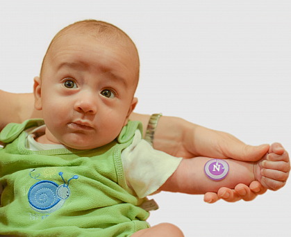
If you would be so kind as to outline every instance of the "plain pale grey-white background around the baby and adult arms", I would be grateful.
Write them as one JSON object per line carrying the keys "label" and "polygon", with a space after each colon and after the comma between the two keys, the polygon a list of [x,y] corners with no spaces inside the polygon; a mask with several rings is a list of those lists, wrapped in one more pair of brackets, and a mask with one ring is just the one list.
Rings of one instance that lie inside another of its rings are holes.
{"label": "plain pale grey-white background around the baby and adult arms", "polygon": [[[290,152],[289,2],[1,1],[0,88],[32,92],[53,36],[101,19],[139,49],[136,112],[183,117],[251,145],[278,141]],[[185,236],[290,236],[290,188],[235,204],[162,193],[149,222],[172,222]]]}

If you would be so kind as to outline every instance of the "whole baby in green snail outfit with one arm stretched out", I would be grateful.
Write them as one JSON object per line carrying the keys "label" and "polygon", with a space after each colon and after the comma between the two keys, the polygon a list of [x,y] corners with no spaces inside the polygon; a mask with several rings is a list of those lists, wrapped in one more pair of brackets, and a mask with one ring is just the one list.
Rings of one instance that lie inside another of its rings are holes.
{"label": "whole baby in green snail outfit with one arm stretched out", "polygon": [[283,186],[290,162],[276,144],[256,163],[154,150],[141,123],[128,121],[139,68],[135,44],[106,22],[76,22],[53,38],[34,84],[44,121],[8,124],[0,134],[0,234],[183,236],[173,224],[149,227],[147,195],[253,180]]}

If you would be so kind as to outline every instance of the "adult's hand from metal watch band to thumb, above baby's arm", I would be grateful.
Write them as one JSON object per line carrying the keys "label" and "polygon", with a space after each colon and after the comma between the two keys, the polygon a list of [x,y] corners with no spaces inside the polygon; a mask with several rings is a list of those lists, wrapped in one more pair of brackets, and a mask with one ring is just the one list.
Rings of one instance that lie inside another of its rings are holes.
{"label": "adult's hand from metal watch band to thumb, above baby's arm", "polygon": [[207,129],[180,117],[162,116],[156,127],[153,148],[183,158],[208,156],[258,161],[267,153],[269,145],[246,145],[229,133]]}

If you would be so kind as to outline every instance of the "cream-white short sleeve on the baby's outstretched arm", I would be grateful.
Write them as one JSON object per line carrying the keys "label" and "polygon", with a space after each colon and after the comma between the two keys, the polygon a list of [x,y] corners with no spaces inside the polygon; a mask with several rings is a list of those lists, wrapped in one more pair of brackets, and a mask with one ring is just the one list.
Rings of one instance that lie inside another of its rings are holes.
{"label": "cream-white short sleeve on the baby's outstretched arm", "polygon": [[138,197],[146,197],[162,186],[175,172],[182,158],[153,149],[139,130],[133,143],[122,151],[122,164],[128,186]]}

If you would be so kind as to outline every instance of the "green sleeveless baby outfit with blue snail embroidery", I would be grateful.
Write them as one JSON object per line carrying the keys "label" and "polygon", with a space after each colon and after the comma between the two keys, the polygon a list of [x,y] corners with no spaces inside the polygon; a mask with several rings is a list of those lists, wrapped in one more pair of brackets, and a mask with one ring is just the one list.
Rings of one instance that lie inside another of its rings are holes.
{"label": "green sleeveless baby outfit with blue snail embroidery", "polygon": [[142,124],[129,121],[108,145],[90,150],[26,149],[27,120],[0,133],[0,234],[17,236],[131,236],[149,213],[124,178],[121,152]]}

